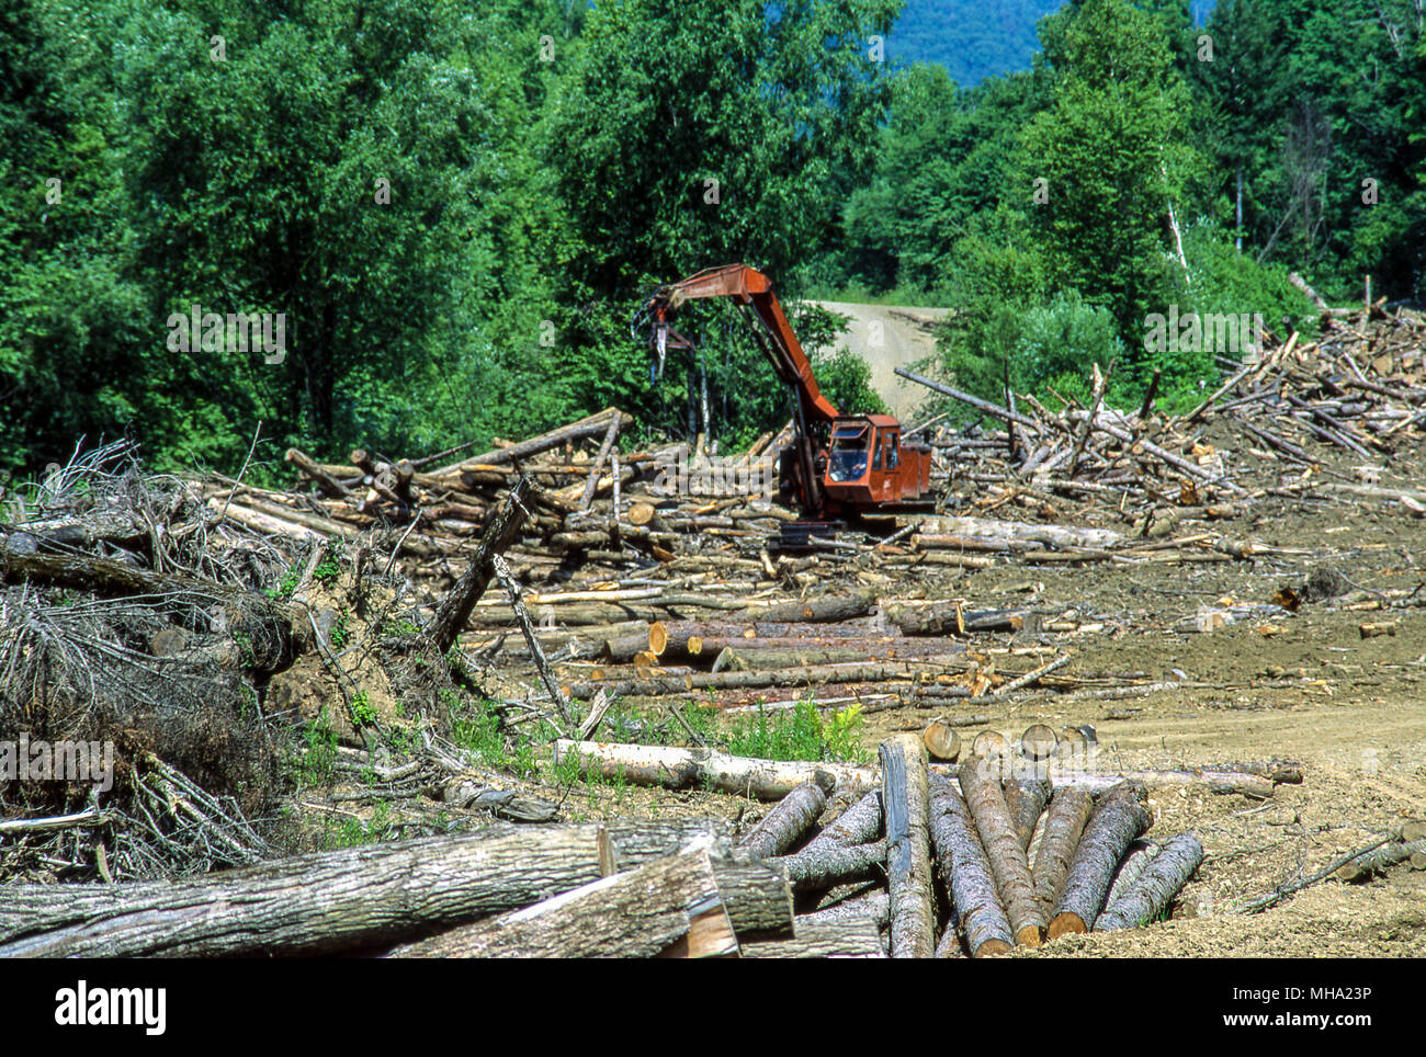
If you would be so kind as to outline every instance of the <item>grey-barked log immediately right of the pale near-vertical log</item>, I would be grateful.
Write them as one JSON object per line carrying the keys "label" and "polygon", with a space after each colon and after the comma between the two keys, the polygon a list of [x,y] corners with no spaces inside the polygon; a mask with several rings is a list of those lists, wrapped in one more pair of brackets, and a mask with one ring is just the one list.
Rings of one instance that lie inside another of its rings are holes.
{"label": "grey-barked log immediately right of the pale near-vertical log", "polygon": [[995,892],[985,849],[965,801],[940,776],[931,782],[931,840],[941,882],[950,895],[953,925],[948,932],[963,934],[974,957],[1007,953],[1014,933]]}

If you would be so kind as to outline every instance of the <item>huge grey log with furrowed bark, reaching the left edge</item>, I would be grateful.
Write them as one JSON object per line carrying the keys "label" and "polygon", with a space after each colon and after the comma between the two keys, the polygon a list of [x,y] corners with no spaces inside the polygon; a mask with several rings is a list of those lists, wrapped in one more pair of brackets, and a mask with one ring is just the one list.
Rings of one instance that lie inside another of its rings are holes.
{"label": "huge grey log with furrowed bark, reaching the left edge", "polygon": [[0,957],[372,950],[597,880],[600,859],[596,825],[511,826],[301,855],[197,882],[10,885]]}

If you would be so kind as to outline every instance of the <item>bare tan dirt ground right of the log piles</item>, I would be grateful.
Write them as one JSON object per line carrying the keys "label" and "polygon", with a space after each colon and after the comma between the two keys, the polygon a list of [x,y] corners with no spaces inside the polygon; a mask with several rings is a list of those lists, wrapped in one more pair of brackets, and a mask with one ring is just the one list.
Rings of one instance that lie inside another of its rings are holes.
{"label": "bare tan dirt ground right of the log piles", "polygon": [[[1078,632],[977,637],[977,645],[1054,645],[1072,652],[1068,674],[1182,684],[1129,699],[1071,691],[1040,694],[998,712],[965,707],[967,714],[988,712],[990,725],[1010,738],[1037,721],[1055,729],[1092,724],[1104,766],[1268,759],[1302,765],[1303,782],[1278,785],[1265,802],[1155,792],[1149,836],[1192,829],[1206,849],[1172,920],[1064,939],[1018,956],[1426,954],[1426,872],[1407,865],[1363,885],[1330,879],[1265,912],[1233,913],[1235,906],[1372,843],[1393,823],[1426,816],[1426,608],[1383,608],[1373,594],[1426,583],[1426,523],[1399,509],[1335,506],[1313,513],[1289,500],[1266,500],[1232,534],[1252,540],[1262,554],[1253,561],[1182,566],[1012,563],[897,585],[928,598],[964,597],[975,608],[1032,607],[1081,625]],[[1352,593],[1303,601],[1295,613],[1272,605],[1279,588],[1301,591],[1320,567],[1346,576]],[[1231,623],[1212,631],[1181,630],[1204,610],[1221,610]],[[1393,623],[1395,634],[1363,637],[1365,623]],[[921,729],[927,718],[915,708],[873,712],[866,744],[897,729]],[[592,816],[615,806],[596,795],[575,799]],[[743,825],[766,811],[717,795],[653,791],[626,791],[617,808],[617,813],[720,813]]]}

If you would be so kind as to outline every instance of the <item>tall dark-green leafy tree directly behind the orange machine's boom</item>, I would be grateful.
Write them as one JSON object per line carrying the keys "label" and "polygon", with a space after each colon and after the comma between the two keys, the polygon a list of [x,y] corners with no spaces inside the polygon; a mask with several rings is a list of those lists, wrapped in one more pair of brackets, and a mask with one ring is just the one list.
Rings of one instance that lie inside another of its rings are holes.
{"label": "tall dark-green leafy tree directly behind the orange machine's boom", "polygon": [[617,402],[683,432],[707,376],[714,425],[746,434],[786,416],[783,387],[729,312],[690,308],[680,329],[717,340],[670,360],[657,387],[626,321],[652,286],[739,261],[791,301],[837,218],[829,187],[870,165],[886,85],[868,38],[897,6],[632,0],[590,14],[548,155],[573,239],[556,373],[570,402]]}

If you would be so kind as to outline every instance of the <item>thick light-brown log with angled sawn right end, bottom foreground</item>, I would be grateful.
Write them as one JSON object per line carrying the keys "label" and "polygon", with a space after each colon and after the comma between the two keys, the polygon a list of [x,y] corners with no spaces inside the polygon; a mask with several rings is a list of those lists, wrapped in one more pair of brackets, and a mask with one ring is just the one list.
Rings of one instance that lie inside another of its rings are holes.
{"label": "thick light-brown log with angled sawn right end, bottom foreground", "polygon": [[712,907],[722,915],[722,942],[704,953],[736,953],[713,863],[696,849],[404,944],[391,957],[655,957]]}

